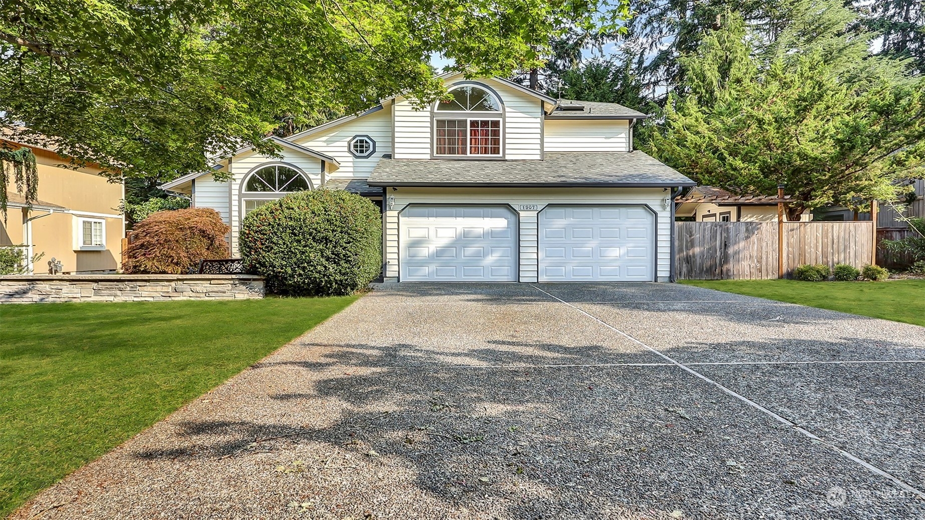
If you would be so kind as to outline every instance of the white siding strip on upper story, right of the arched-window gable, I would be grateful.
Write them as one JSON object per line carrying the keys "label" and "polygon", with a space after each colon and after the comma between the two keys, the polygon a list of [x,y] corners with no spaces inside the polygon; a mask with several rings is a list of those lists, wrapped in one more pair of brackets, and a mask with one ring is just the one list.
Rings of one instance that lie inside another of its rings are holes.
{"label": "white siding strip on upper story, right of the arched-window gable", "polygon": [[630,124],[625,119],[546,119],[547,152],[629,152]]}

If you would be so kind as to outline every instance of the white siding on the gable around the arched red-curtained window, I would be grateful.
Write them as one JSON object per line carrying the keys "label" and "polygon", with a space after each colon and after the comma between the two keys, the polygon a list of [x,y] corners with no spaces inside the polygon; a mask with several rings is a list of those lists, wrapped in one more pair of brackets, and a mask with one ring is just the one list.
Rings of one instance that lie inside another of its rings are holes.
{"label": "white siding on the gable around the arched red-curtained window", "polygon": [[[461,79],[450,80],[461,82]],[[508,159],[542,158],[543,108],[536,97],[494,80],[478,80],[497,92],[504,105],[504,148]],[[395,158],[429,159],[431,107],[414,109],[411,101],[395,101]]]}

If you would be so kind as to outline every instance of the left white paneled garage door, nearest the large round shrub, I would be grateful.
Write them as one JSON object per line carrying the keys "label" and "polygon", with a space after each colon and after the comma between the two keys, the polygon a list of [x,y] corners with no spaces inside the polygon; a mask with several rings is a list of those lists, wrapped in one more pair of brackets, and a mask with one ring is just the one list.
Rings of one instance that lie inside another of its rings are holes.
{"label": "left white paneled garage door, nearest the large round shrub", "polygon": [[517,217],[508,206],[412,204],[399,216],[401,281],[514,281]]}

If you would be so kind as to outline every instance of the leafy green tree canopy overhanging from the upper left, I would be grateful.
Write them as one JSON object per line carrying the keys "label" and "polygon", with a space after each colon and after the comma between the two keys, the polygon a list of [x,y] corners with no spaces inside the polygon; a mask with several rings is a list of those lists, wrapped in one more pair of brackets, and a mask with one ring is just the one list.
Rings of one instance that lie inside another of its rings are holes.
{"label": "leafy green tree canopy overhanging from the upper left", "polygon": [[242,146],[395,93],[442,93],[426,56],[474,75],[541,65],[607,0],[11,0],[0,124],[125,176],[200,170]]}

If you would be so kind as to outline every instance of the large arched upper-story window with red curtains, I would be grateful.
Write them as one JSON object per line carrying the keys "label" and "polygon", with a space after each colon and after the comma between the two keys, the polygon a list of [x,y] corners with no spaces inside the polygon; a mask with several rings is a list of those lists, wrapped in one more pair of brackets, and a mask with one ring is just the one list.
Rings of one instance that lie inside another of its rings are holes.
{"label": "large arched upper-story window with red curtains", "polygon": [[501,104],[486,89],[462,85],[434,108],[434,155],[501,155]]}

